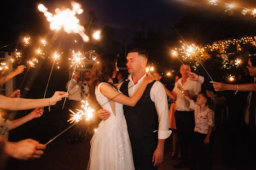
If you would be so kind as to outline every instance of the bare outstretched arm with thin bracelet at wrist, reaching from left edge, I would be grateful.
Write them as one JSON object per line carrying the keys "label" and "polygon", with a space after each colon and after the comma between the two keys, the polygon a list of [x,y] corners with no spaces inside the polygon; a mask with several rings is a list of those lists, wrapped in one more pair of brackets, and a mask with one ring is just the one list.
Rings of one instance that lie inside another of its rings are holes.
{"label": "bare outstretched arm with thin bracelet at wrist, reaching from left edge", "polygon": [[55,105],[57,101],[67,96],[66,92],[55,92],[49,99],[22,99],[22,98],[7,98],[0,95],[0,108],[10,111],[28,110],[36,107],[45,107]]}

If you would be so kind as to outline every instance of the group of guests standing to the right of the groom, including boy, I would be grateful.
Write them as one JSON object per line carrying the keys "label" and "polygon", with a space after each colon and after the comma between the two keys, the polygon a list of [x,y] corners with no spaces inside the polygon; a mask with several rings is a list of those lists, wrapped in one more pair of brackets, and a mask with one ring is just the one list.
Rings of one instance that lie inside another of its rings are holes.
{"label": "group of guests standing to the right of the groom, including boy", "polygon": [[[216,92],[232,90],[223,96],[202,89],[209,89],[205,77],[190,71],[189,65],[181,65],[182,77],[176,78],[170,92],[165,88],[169,101],[169,127],[172,129],[172,157],[181,159],[174,168],[212,168],[212,141],[214,112],[209,104],[228,106],[229,117],[225,120],[223,163],[236,168],[253,166],[256,142],[256,57],[251,56],[247,65],[249,75],[241,75],[236,84],[211,82]],[[155,80],[161,75],[154,73]],[[179,154],[179,150],[180,153]]]}

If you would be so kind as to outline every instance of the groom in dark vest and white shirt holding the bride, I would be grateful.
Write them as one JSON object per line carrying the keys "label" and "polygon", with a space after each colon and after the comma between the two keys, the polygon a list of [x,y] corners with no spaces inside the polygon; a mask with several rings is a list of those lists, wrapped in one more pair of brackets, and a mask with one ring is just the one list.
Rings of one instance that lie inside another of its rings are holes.
{"label": "groom in dark vest and white shirt holding the bride", "polygon": [[[118,88],[126,96],[132,96],[143,78],[148,54],[135,48],[127,54],[128,80]],[[165,139],[171,135],[168,130],[168,103],[162,83],[153,81],[148,84],[135,107],[124,105],[124,116],[132,146],[135,169],[157,169],[164,159]],[[106,120],[108,113],[101,111],[98,117]]]}

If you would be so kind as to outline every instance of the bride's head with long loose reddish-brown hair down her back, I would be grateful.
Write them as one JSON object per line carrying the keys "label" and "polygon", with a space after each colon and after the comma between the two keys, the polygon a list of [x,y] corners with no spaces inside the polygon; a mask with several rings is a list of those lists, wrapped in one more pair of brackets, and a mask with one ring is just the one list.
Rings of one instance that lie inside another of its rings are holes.
{"label": "bride's head with long loose reddish-brown hair down her back", "polygon": [[94,65],[92,66],[91,83],[89,87],[89,102],[90,105],[95,109],[100,106],[95,97],[95,87],[101,82],[114,86],[108,81],[109,78],[112,78],[113,74],[116,72],[115,62],[117,62],[117,58],[115,58],[114,55],[100,55],[97,56]]}

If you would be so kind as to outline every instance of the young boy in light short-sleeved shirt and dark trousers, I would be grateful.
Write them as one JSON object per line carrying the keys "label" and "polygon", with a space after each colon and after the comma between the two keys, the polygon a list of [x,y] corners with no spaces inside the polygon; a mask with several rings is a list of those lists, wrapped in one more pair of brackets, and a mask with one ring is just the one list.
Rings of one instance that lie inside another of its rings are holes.
{"label": "young boy in light short-sleeved shirt and dark trousers", "polygon": [[196,102],[184,96],[190,103],[189,107],[195,111],[195,129],[193,146],[193,164],[197,169],[211,169],[210,136],[214,126],[214,112],[208,107],[206,92],[200,92]]}

